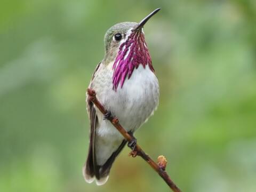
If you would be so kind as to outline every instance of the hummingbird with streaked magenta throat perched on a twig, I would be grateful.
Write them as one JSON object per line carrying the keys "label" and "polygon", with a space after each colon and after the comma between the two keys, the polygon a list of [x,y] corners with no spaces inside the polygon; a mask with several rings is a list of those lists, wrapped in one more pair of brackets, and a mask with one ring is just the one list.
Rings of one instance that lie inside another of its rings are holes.
{"label": "hummingbird with streaked magenta throat perched on a twig", "polygon": [[[121,22],[110,27],[104,37],[105,57],[96,67],[89,88],[108,113],[103,115],[88,99],[90,142],[83,166],[86,182],[107,182],[109,172],[127,141],[106,121],[117,117],[124,129],[133,135],[158,106],[159,85],[143,32],[145,23],[160,8],[137,22]],[[128,142],[134,147],[136,141]]]}

